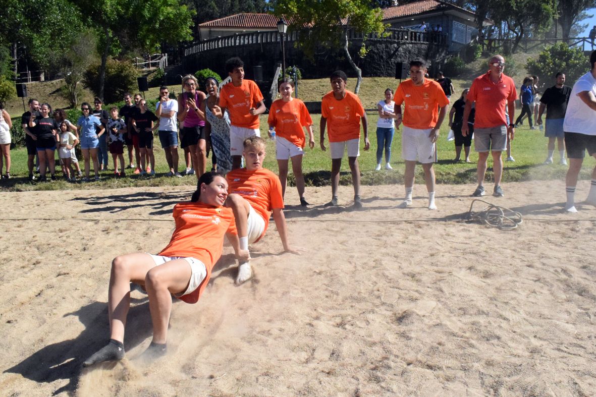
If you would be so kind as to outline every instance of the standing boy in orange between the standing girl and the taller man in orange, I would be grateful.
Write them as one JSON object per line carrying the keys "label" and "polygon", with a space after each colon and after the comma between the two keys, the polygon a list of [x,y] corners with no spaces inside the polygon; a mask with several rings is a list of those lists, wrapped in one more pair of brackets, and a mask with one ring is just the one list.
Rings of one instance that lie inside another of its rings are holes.
{"label": "standing boy in orange between the standing girl and the taller man in orange", "polygon": [[347,91],[347,76],[342,70],[331,73],[331,88],[321,100],[321,150],[325,151],[325,127],[329,126],[329,148],[331,150],[331,201],[328,206],[337,205],[337,187],[339,172],[342,168],[342,157],[347,147],[347,161],[352,172],[354,185],[354,207],[362,208],[360,198],[360,122],[364,131],[364,150],[368,150],[367,114],[359,98]]}

